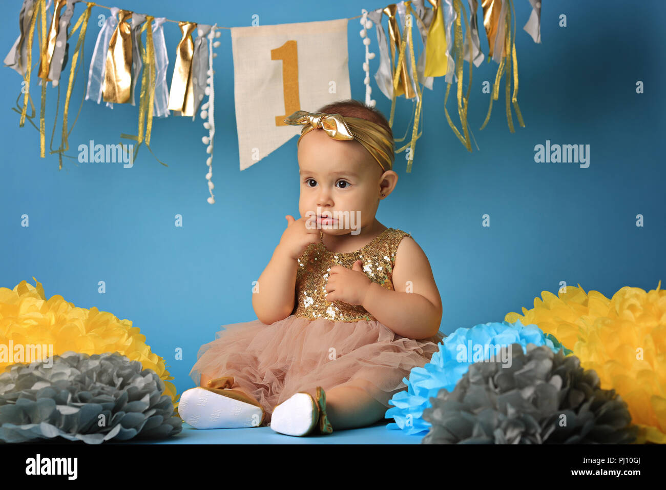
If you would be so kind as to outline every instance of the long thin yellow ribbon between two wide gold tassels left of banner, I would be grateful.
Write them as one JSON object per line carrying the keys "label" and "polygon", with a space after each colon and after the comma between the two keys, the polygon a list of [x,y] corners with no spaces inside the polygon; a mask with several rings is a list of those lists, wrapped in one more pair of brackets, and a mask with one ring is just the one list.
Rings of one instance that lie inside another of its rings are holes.
{"label": "long thin yellow ribbon between two wide gold tassels left of banner", "polygon": [[[133,139],[139,143],[134,152],[134,161],[139,154],[139,148],[144,141],[144,127],[145,127],[145,142],[146,147],[151,150],[151,132],[153,130],[153,108],[155,106],[155,45],[153,44],[153,20],[155,17],[147,15],[146,22],[141,27],[141,33],[146,32],[146,47],[139,46],[141,51],[141,58],[143,59],[143,76],[141,78],[141,97],[139,99],[139,133],[137,136],[121,133],[121,138]],[[140,37],[141,39],[141,37]],[[124,147],[125,145],[123,145]],[[155,157],[155,153],[153,153]],[[155,157],[159,163],[168,167],[166,163],[160,161]]]}

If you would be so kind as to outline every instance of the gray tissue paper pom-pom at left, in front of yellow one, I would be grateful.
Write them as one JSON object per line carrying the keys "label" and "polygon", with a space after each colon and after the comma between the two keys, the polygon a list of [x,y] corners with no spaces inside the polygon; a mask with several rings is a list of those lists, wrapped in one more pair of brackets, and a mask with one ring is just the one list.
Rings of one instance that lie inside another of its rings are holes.
{"label": "gray tissue paper pom-pom at left, in front of yellow one", "polygon": [[119,353],[66,352],[0,375],[0,441],[64,437],[100,444],[179,433],[171,398],[152,369]]}

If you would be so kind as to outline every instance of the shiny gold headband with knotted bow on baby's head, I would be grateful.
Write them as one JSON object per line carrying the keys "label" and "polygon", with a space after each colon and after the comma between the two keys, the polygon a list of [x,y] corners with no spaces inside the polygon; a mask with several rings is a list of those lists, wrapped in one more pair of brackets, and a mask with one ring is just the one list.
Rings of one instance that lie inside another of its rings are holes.
{"label": "shiny gold headband with knotted bow on baby's head", "polygon": [[370,152],[383,171],[393,168],[395,157],[392,137],[385,127],[372,121],[360,117],[344,117],[340,114],[296,111],[286,117],[284,122],[290,125],[304,125],[296,146],[312,129],[323,129],[327,135],[338,141],[356,139]]}

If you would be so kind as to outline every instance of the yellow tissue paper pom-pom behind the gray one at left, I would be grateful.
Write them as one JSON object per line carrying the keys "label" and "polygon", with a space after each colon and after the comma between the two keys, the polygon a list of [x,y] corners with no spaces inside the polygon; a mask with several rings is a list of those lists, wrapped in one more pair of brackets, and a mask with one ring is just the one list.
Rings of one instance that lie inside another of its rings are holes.
{"label": "yellow tissue paper pom-pom behind the gray one at left", "polygon": [[[165,360],[146,345],[139,328],[95,307],[77,308],[61,295],[46,299],[41,283],[33,279],[37,287],[27,281],[21,281],[14,289],[0,287],[0,373],[15,362],[30,361],[16,361],[15,353],[7,356],[10,344],[53,345],[53,355],[67,351],[90,355],[117,351],[131,361],[141,362],[143,369],[153,369],[165,382],[163,395],[170,396],[175,407],[176,387],[167,381],[173,377],[165,369]],[[43,355],[47,354],[51,352]]]}

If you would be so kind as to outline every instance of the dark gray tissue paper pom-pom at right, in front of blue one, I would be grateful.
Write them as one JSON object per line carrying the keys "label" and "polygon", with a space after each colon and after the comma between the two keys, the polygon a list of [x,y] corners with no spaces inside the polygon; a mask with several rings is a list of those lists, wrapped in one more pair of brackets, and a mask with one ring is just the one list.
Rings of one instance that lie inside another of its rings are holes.
{"label": "dark gray tissue paper pom-pom at right, in front of blue one", "polygon": [[627,403],[573,355],[511,345],[511,365],[478,362],[454,391],[431,397],[422,444],[625,444],[635,441]]}

